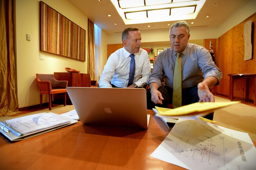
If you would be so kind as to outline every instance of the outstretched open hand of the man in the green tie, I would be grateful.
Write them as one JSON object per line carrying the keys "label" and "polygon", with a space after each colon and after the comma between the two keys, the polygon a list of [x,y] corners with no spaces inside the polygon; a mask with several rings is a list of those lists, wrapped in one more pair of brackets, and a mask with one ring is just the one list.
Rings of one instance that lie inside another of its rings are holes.
{"label": "outstretched open hand of the man in the green tie", "polygon": [[214,102],[214,95],[210,92],[206,83],[198,83],[197,88],[199,102]]}

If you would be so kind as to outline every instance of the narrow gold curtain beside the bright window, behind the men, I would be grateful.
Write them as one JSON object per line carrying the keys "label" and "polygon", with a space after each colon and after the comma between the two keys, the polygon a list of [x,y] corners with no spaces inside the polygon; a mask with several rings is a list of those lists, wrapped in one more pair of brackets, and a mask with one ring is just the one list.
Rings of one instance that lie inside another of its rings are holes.
{"label": "narrow gold curtain beside the bright window, behind the men", "polygon": [[95,40],[94,23],[88,19],[88,74],[95,80]]}

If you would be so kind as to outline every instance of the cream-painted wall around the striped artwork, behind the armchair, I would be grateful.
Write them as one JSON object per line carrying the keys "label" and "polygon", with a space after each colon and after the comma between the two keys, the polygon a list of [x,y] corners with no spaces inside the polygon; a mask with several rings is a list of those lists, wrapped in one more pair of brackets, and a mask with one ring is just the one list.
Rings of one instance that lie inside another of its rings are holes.
{"label": "cream-painted wall around the striped artwork, behind the armchair", "polygon": [[[68,0],[44,0],[44,3],[76,23],[87,33],[87,16],[77,10]],[[87,73],[87,36],[86,62],[39,51],[39,0],[16,0],[16,61],[17,91],[19,108],[40,103],[36,73],[53,74],[66,72],[65,67],[75,68]],[[31,41],[26,40],[31,35]],[[45,56],[44,60],[39,55]],[[43,103],[48,96],[43,95]]]}

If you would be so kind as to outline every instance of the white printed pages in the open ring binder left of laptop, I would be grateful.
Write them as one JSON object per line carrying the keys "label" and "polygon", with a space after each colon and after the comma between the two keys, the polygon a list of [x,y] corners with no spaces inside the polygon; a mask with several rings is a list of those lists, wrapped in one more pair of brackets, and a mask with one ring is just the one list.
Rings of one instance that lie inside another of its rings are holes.
{"label": "white printed pages in the open ring binder left of laptop", "polygon": [[39,113],[6,120],[5,123],[22,135],[31,134],[51,127],[69,123],[70,120],[48,114]]}

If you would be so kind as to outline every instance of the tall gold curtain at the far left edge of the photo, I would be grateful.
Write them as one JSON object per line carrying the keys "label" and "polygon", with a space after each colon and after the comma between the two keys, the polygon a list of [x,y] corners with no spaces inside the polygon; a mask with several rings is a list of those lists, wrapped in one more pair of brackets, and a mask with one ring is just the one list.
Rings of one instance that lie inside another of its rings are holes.
{"label": "tall gold curtain at the far left edge of the photo", "polygon": [[15,87],[13,0],[0,0],[0,117],[19,113]]}

